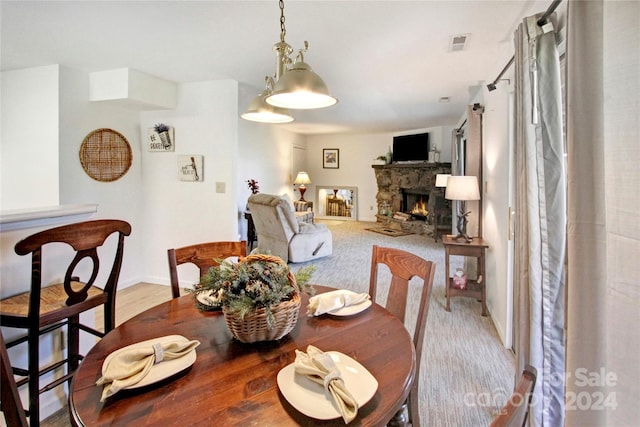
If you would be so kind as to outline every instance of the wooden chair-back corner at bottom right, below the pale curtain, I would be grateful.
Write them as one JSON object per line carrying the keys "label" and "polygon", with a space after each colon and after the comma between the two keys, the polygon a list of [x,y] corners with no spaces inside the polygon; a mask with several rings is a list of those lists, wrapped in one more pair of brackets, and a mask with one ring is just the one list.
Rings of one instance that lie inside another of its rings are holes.
{"label": "wooden chair-back corner at bottom right, below the pale curtain", "polygon": [[531,409],[537,375],[538,371],[533,366],[524,368],[516,389],[490,427],[524,427]]}

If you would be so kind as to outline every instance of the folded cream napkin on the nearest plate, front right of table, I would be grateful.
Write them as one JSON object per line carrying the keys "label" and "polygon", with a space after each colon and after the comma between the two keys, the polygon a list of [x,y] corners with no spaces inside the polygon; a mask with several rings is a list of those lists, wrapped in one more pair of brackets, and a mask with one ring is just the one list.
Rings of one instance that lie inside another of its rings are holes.
{"label": "folded cream napkin on the nearest plate, front right of table", "polygon": [[358,403],[344,385],[340,370],[330,354],[312,345],[307,347],[306,353],[296,350],[294,369],[297,374],[324,386],[338,406],[345,424],[358,415]]}

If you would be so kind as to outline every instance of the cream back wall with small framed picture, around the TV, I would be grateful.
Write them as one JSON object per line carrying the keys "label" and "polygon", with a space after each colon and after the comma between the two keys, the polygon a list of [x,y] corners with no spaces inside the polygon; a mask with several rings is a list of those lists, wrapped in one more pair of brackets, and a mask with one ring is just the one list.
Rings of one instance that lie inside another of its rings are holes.
{"label": "cream back wall with small framed picture, around the TV", "polygon": [[[451,161],[451,130],[441,126],[415,130],[429,132],[430,142],[441,153],[442,162]],[[357,212],[359,221],[375,221],[377,213],[376,193],[378,186],[371,165],[373,160],[387,153],[393,145],[393,133],[312,135],[307,137],[307,168],[311,184],[307,185],[305,199],[315,200],[315,187],[358,187]],[[340,150],[339,168],[322,167],[322,149]],[[307,195],[309,197],[307,197]],[[311,199],[314,197],[314,199]]]}

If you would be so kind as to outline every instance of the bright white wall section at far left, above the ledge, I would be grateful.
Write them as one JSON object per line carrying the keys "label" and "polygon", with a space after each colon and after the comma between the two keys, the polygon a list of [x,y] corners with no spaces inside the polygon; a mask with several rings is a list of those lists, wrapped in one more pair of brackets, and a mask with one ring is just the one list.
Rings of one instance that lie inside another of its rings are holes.
{"label": "bright white wall section at far left, above the ledge", "polygon": [[58,68],[1,74],[3,210],[58,204]]}

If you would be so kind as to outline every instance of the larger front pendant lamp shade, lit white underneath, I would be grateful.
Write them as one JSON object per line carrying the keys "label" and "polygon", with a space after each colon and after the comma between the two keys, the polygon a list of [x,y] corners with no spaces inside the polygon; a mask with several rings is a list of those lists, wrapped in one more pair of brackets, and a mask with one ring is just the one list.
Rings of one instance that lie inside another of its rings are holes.
{"label": "larger front pendant lamp shade, lit white underneath", "polygon": [[338,102],[322,78],[306,62],[297,62],[278,80],[267,103],[281,108],[314,109]]}

